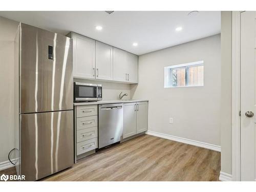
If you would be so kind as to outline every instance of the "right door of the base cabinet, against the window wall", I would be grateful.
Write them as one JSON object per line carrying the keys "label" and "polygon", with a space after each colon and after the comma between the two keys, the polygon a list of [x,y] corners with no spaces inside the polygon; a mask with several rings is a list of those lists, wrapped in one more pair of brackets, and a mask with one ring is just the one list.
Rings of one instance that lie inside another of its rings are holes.
{"label": "right door of the base cabinet, against the window wall", "polygon": [[137,134],[147,131],[147,101],[137,102]]}

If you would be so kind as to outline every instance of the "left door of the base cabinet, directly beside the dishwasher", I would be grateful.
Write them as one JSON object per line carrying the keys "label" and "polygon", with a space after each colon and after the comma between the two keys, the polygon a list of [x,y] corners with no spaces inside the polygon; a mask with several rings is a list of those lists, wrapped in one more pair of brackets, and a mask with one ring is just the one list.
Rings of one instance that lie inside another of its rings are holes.
{"label": "left door of the base cabinet, directly beside the dishwasher", "polygon": [[123,103],[123,139],[136,134],[136,103]]}

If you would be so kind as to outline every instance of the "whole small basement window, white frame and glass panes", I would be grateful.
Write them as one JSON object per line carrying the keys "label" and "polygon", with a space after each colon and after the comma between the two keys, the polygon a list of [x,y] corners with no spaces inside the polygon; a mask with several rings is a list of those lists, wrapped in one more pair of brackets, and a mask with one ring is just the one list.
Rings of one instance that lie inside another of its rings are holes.
{"label": "whole small basement window, white frame and glass panes", "polygon": [[164,88],[204,86],[204,61],[164,67]]}

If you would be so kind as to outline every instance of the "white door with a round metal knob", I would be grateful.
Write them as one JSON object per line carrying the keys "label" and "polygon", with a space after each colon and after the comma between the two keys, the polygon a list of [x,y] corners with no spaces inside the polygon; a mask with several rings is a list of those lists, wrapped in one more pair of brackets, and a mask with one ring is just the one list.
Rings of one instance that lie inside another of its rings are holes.
{"label": "white door with a round metal knob", "polygon": [[[255,18],[256,12],[241,13],[241,180],[254,181],[255,171]],[[254,113],[254,116],[252,116]],[[250,117],[251,116],[251,117]]]}

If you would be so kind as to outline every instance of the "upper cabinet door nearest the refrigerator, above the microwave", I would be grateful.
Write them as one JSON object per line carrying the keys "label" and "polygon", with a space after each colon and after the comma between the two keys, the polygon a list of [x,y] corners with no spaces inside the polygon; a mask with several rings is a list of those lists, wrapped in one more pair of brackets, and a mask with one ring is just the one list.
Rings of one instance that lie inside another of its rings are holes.
{"label": "upper cabinet door nearest the refrigerator, above the microwave", "polygon": [[73,76],[95,78],[95,40],[73,34]]}

